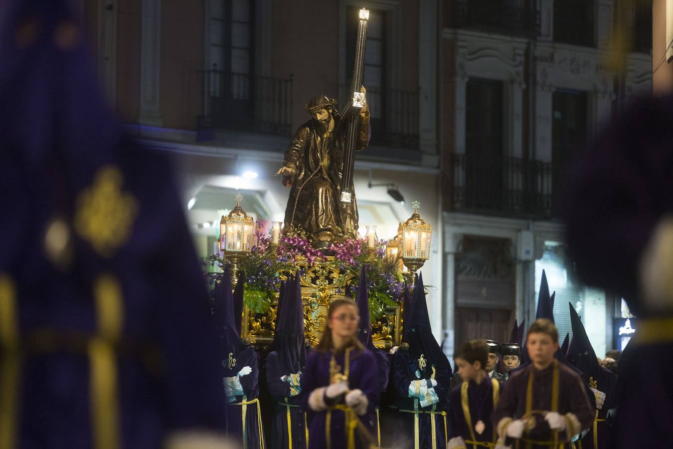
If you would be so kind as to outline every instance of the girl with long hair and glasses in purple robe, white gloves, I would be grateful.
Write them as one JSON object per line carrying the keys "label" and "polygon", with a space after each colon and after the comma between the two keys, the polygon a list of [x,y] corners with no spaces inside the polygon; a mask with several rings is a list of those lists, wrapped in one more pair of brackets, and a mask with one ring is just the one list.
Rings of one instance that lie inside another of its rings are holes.
{"label": "girl with long hair and glasses in purple robe, white gloves", "polygon": [[376,445],[373,421],[379,392],[376,358],[357,339],[359,315],[350,298],[336,298],[327,328],[308,354],[302,379],[309,448],[369,448]]}

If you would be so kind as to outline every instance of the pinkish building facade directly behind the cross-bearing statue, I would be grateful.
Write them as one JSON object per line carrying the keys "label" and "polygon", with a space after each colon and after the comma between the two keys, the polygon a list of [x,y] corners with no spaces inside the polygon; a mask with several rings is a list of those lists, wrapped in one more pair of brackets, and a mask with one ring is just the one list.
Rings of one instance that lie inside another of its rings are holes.
{"label": "pinkish building facade directly behind the cross-bearing statue", "polygon": [[282,221],[289,189],[275,173],[283,152],[310,118],[310,98],[347,103],[357,12],[369,9],[363,84],[372,136],[354,174],[360,228],[376,224],[379,238],[392,238],[420,201],[435,230],[422,271],[435,287],[429,308],[439,337],[437,1],[74,1],[127,129],[175,156],[201,256],[213,252],[236,193],[255,219]]}

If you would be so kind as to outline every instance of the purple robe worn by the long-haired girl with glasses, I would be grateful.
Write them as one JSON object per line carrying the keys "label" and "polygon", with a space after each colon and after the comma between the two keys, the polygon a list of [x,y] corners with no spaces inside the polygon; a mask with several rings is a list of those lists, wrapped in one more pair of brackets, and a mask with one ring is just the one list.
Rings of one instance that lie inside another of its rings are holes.
{"label": "purple robe worn by the long-haired girl with glasses", "polygon": [[[304,407],[308,412],[308,447],[324,448],[327,441],[330,442],[332,449],[347,448],[347,427],[345,412],[339,409],[329,411],[311,411],[308,407],[308,397],[311,392],[321,386],[330,384],[330,359],[331,353],[322,353],[320,351],[311,351],[306,361],[306,373],[302,379],[302,398]],[[345,352],[337,353],[334,357],[336,364],[345,371]],[[349,374],[348,384],[351,390],[359,388],[367,396],[369,405],[365,415],[359,416],[369,436],[376,441],[374,434],[374,420],[376,419],[375,409],[379,402],[379,385],[377,379],[376,358],[368,349],[361,351],[353,349],[349,353]],[[331,415],[328,421],[328,413]],[[326,424],[328,423],[329,429]],[[366,441],[361,438],[359,432],[355,431],[356,448],[367,447]]]}

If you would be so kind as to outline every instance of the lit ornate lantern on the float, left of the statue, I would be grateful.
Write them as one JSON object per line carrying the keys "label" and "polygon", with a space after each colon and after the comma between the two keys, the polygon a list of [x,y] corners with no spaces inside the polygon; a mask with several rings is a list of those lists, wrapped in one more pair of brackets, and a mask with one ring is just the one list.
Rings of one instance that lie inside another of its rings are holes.
{"label": "lit ornate lantern on the float, left of the statue", "polygon": [[[236,207],[219,221],[219,249],[232,263],[232,277],[241,256],[252,250],[254,243],[254,219],[242,208],[242,195],[236,195]],[[238,273],[236,273],[238,274]]]}

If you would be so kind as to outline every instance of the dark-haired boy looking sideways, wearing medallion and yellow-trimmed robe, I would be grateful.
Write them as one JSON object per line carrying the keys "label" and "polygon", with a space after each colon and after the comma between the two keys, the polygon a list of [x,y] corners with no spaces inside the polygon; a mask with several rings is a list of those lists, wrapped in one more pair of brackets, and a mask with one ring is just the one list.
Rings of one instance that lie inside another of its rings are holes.
{"label": "dark-haired boy looking sideways, wearing medallion and yellow-trimmed robe", "polygon": [[483,340],[463,343],[454,357],[462,384],[449,393],[449,449],[493,447],[496,440],[491,413],[500,399],[500,382],[484,367],[489,347]]}

